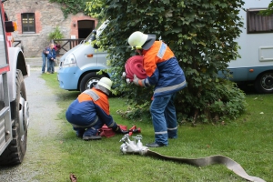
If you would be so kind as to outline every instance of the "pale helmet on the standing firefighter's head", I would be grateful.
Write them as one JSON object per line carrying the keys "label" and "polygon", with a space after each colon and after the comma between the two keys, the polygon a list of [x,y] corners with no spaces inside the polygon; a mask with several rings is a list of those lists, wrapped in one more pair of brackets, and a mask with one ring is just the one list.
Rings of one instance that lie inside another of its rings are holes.
{"label": "pale helmet on the standing firefighter's head", "polygon": [[136,31],[128,38],[129,45],[132,49],[149,49],[156,41],[156,35],[146,35],[142,32]]}

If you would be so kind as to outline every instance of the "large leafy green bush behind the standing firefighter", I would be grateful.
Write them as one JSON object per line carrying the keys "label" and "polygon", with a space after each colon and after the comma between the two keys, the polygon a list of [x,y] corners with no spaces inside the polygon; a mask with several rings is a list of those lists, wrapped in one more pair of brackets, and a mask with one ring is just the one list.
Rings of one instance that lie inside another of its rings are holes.
{"label": "large leafy green bush behind the standing firefighter", "polygon": [[[243,25],[238,17],[241,0],[95,0],[89,15],[109,19],[96,44],[109,53],[117,93],[130,104],[149,106],[153,90],[127,85],[121,74],[126,59],[136,55],[127,44],[135,31],[156,34],[175,52],[184,69],[187,88],[177,94],[179,119],[191,122],[235,118],[245,110],[245,95],[233,83],[218,78],[219,70],[238,57],[235,39]],[[148,109],[142,109],[148,111]]]}

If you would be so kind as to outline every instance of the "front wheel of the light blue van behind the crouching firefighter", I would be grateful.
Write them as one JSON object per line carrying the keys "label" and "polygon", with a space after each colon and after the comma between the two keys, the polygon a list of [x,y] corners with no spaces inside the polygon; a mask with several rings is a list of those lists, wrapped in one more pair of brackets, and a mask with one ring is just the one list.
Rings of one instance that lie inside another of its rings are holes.
{"label": "front wheel of the light blue van behind the crouching firefighter", "polygon": [[80,92],[84,92],[88,88],[92,88],[104,75],[96,75],[95,72],[86,74],[80,82]]}

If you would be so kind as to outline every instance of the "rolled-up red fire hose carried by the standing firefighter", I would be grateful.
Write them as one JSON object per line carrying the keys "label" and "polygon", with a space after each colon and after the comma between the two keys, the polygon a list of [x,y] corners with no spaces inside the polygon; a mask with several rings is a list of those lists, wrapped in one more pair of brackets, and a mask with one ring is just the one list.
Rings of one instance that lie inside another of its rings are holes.
{"label": "rolled-up red fire hose carried by the standing firefighter", "polygon": [[127,83],[130,83],[136,75],[139,79],[145,79],[147,77],[143,68],[143,56],[131,56],[126,61],[126,72],[123,73],[123,77],[126,77]]}

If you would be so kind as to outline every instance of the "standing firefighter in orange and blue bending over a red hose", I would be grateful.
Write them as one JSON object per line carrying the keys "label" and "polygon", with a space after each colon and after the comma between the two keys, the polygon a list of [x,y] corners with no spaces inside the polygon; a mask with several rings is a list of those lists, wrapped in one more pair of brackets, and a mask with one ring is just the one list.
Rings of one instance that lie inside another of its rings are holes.
{"label": "standing firefighter in orange and blue bending over a red hose", "polygon": [[156,141],[147,147],[168,145],[168,138],[177,138],[177,116],[174,104],[177,91],[187,86],[186,78],[177,58],[156,35],[146,35],[136,31],[128,38],[129,45],[144,57],[143,67],[147,78],[134,76],[136,86],[155,85],[150,106]]}

